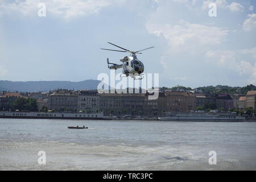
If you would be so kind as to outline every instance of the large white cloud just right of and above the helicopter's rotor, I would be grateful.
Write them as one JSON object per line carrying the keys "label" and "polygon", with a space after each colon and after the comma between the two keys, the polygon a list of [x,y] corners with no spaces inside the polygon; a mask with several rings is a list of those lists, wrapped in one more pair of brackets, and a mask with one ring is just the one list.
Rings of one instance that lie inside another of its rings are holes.
{"label": "large white cloud just right of and above the helicopter's rotor", "polygon": [[228,30],[180,20],[178,24],[147,23],[147,30],[156,36],[163,36],[176,51],[196,46],[219,44],[225,41]]}

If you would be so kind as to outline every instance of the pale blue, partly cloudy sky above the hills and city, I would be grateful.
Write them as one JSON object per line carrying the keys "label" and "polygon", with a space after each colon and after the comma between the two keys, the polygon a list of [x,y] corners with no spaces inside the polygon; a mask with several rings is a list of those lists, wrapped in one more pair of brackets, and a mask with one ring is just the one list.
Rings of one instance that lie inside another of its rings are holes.
{"label": "pale blue, partly cloudy sky above the hills and city", "polygon": [[154,46],[138,59],[160,86],[256,84],[255,9],[254,0],[0,0],[0,80],[96,80],[110,75],[107,57],[127,56],[100,49],[118,49],[111,42]]}

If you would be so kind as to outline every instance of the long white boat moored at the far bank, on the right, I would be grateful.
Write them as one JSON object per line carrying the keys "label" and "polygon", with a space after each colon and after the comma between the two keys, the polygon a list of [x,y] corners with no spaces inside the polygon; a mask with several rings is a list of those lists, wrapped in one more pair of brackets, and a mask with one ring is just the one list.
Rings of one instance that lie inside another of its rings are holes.
{"label": "long white boat moored at the far bank, on the right", "polygon": [[159,121],[244,122],[244,117],[234,114],[170,114]]}

